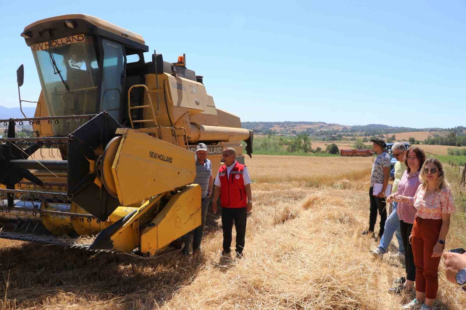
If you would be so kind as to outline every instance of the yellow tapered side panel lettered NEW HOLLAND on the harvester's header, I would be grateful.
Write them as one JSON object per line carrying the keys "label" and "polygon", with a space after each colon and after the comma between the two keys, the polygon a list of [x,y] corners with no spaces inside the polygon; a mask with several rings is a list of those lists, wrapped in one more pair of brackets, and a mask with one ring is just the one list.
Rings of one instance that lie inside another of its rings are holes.
{"label": "yellow tapered side panel lettered NEW HOLLAND on the harvester's header", "polygon": [[194,181],[196,166],[190,151],[129,128],[119,133],[122,141],[112,173],[123,206]]}

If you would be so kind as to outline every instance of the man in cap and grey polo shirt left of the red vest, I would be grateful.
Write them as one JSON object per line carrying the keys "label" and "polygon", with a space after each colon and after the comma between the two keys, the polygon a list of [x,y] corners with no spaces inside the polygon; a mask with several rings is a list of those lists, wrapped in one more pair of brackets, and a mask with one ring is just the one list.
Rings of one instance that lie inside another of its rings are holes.
{"label": "man in cap and grey polo shirt left of the red vest", "polygon": [[[212,163],[207,159],[208,149],[206,144],[199,143],[196,146],[196,178],[194,179],[195,184],[199,184],[201,187],[201,216],[202,224],[198,228],[194,229],[194,237],[192,240],[192,254],[196,254],[201,246],[202,236],[204,235],[204,227],[206,226],[207,208],[209,207],[209,197],[212,193],[213,176],[212,176]],[[182,250],[184,255],[189,253],[189,243],[191,239],[191,233],[186,234],[183,237],[185,241],[185,247]]]}

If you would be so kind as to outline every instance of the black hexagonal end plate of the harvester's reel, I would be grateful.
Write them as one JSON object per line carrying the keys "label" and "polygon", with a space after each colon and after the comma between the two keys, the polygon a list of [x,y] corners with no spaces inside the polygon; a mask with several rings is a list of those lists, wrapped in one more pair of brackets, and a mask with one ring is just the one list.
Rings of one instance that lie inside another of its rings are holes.
{"label": "black hexagonal end plate of the harvester's reel", "polygon": [[122,126],[104,111],[68,136],[68,195],[101,221],[120,205],[100,182],[95,163]]}

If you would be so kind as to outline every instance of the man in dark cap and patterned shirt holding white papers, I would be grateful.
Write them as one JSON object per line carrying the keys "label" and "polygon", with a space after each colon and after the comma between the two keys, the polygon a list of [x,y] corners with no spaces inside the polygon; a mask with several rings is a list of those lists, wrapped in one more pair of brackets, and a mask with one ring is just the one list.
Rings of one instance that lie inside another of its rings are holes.
{"label": "man in dark cap and patterned shirt holding white papers", "polygon": [[[378,236],[384,235],[385,221],[387,220],[387,210],[385,209],[385,198],[384,193],[387,188],[388,178],[390,174],[390,155],[385,152],[387,145],[384,139],[376,138],[370,140],[374,151],[377,153],[372,164],[372,172],[370,174],[370,188],[369,188],[369,199],[370,199],[370,215],[369,215],[369,229],[362,232],[363,235],[372,234],[375,236],[374,227],[377,221],[377,211],[380,214],[380,229]],[[378,195],[372,195],[374,190],[374,184],[381,183],[382,190]]]}

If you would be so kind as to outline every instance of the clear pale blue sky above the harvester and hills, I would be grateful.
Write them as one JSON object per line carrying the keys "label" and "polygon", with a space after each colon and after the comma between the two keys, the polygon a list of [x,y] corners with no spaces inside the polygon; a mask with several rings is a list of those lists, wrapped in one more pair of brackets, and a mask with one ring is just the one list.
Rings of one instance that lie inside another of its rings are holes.
{"label": "clear pale blue sky above the harvester and hills", "polygon": [[164,61],[186,53],[242,121],[466,125],[464,1],[2,1],[0,105],[18,106],[21,63],[22,98],[40,93],[23,28],[68,13],[141,34]]}

